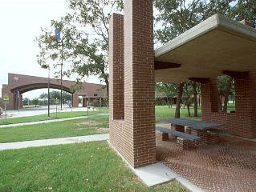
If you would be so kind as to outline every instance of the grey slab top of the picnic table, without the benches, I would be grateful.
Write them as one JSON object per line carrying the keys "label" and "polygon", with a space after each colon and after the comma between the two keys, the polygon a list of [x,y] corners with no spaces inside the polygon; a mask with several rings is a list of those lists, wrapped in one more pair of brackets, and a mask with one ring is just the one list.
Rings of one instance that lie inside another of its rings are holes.
{"label": "grey slab top of the picnic table, without the benches", "polygon": [[194,130],[209,130],[221,127],[221,124],[217,122],[202,122],[186,118],[172,118],[168,122],[178,126],[188,126]]}

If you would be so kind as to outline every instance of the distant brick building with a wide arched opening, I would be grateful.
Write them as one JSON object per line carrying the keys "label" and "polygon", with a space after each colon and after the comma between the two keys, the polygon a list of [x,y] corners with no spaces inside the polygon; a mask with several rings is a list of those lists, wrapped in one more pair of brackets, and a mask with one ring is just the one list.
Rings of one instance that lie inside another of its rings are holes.
{"label": "distant brick building with a wide arched opening", "polygon": [[[82,84],[80,90],[73,92],[71,86],[75,85],[73,81],[63,80],[63,90],[72,94],[72,105],[74,107],[79,106],[79,96],[83,97],[83,106],[87,106],[87,101],[92,102],[94,99],[103,103],[103,98],[107,95],[107,89],[104,85],[87,83]],[[10,102],[6,104],[6,108],[10,110],[21,109],[22,106],[22,94],[30,91],[43,89],[48,87],[48,78],[40,78],[35,76],[23,75],[23,74],[8,74],[8,84],[2,85],[2,98],[4,95],[10,97]],[[60,90],[60,81],[51,78],[51,89]]]}

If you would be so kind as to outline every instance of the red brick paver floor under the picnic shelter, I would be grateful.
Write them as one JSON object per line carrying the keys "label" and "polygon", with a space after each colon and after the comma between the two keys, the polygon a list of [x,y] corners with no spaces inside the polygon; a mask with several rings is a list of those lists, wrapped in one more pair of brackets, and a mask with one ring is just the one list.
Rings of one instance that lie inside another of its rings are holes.
{"label": "red brick paver floor under the picnic shelter", "polygon": [[220,142],[178,150],[156,137],[156,158],[205,191],[256,191],[256,142],[221,135]]}

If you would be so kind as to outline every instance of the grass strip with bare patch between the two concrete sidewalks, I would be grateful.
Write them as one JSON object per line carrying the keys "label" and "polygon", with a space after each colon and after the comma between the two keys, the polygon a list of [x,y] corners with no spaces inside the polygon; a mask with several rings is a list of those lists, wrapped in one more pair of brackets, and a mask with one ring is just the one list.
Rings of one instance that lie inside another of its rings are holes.
{"label": "grass strip with bare patch between the two concrete sidewalks", "polygon": [[106,128],[108,128],[108,115],[30,126],[6,127],[0,128],[0,142],[104,134],[108,133]]}

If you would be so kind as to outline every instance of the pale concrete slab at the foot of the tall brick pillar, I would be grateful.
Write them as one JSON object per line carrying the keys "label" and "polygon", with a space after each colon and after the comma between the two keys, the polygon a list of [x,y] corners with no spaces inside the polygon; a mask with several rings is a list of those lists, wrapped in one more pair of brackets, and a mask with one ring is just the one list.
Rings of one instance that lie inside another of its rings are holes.
{"label": "pale concrete slab at the foot of the tall brick pillar", "polygon": [[132,169],[147,186],[156,186],[165,182],[170,182],[179,177],[178,174],[169,170],[169,168],[161,162],[157,162],[150,166]]}

